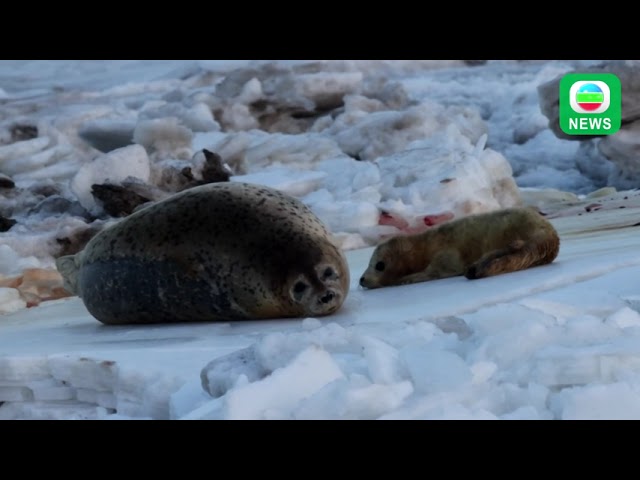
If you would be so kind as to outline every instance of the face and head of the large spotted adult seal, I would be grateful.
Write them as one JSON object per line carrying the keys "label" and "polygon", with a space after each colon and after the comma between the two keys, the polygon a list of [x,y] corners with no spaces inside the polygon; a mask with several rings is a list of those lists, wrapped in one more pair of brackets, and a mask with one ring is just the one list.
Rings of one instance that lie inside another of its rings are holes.
{"label": "face and head of the large spotted adult seal", "polygon": [[342,253],[327,244],[320,261],[306,268],[292,269],[285,283],[285,295],[302,315],[330,315],[347,297],[349,268]]}

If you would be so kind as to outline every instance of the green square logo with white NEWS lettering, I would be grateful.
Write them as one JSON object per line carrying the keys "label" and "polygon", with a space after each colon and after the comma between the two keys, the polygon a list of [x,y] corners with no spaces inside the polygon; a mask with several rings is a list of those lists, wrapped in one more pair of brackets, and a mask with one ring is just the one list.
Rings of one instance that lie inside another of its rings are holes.
{"label": "green square logo with white NEWS lettering", "polygon": [[620,130],[622,92],[613,73],[568,73],[560,80],[560,128],[567,135]]}

